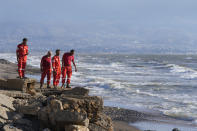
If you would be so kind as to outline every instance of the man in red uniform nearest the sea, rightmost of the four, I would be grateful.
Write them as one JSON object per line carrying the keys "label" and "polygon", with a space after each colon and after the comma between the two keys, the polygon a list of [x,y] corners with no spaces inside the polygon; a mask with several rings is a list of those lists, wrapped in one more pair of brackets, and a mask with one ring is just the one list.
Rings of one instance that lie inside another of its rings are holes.
{"label": "man in red uniform nearest the sea, rightmost of the four", "polygon": [[74,61],[74,50],[71,50],[70,52],[64,53],[62,57],[62,88],[65,87],[65,79],[67,75],[67,85],[66,88],[70,87],[70,81],[72,76],[72,63],[75,67],[75,72],[77,72],[77,67]]}

